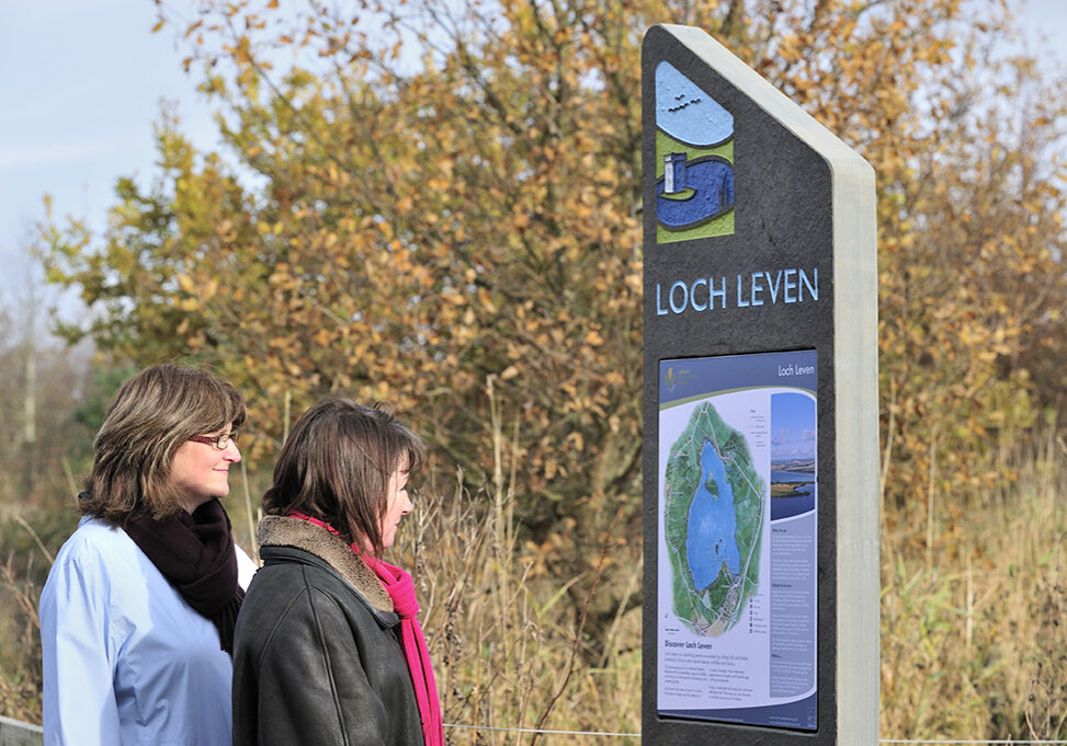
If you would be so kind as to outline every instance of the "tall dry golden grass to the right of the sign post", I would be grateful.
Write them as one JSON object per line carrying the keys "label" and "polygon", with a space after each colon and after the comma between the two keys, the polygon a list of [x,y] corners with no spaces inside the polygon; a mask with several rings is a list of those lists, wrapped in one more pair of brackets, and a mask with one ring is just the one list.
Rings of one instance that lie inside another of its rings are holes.
{"label": "tall dry golden grass to the right of the sign post", "polygon": [[883,535],[883,737],[1067,737],[1067,447],[1001,457],[1010,486]]}

